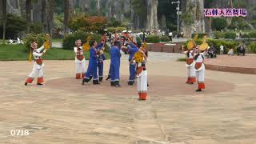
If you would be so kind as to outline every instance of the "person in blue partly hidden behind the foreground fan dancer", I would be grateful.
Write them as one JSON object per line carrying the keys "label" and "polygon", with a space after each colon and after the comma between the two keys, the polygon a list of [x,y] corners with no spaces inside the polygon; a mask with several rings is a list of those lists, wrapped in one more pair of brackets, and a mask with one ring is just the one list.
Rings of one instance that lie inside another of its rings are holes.
{"label": "person in blue partly hidden behind the foreground fan dancer", "polygon": [[[138,46],[138,47],[137,47]],[[130,41],[130,46],[127,46],[128,48],[128,53],[130,54],[129,56],[129,72],[130,72],[130,77],[128,81],[128,85],[134,85],[134,80],[135,80],[135,74],[136,74],[136,63],[131,62],[132,59],[134,58],[134,54],[138,51],[139,47],[141,46],[140,43],[137,43],[137,46],[134,45],[133,42]]]}

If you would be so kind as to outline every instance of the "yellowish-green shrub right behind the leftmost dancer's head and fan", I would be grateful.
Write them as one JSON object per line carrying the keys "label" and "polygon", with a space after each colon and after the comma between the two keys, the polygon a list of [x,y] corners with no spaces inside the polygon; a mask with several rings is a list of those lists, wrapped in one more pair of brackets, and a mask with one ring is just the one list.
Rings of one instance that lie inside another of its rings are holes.
{"label": "yellowish-green shrub right behind the leftmost dancer's head and fan", "polygon": [[43,45],[46,39],[47,39],[46,34],[34,34],[34,33],[26,34],[26,38],[23,39],[26,46],[25,51],[28,52],[30,50],[30,44],[33,40],[37,42],[38,47],[40,47]]}

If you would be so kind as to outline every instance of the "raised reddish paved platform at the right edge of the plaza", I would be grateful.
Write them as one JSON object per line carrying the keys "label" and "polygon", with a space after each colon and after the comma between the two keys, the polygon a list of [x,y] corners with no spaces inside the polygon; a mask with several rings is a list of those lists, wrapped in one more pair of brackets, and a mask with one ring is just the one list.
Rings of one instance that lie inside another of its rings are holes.
{"label": "raised reddish paved platform at the right edge of the plaza", "polygon": [[219,55],[218,58],[206,58],[208,70],[227,71],[242,74],[256,74],[256,54],[246,56]]}

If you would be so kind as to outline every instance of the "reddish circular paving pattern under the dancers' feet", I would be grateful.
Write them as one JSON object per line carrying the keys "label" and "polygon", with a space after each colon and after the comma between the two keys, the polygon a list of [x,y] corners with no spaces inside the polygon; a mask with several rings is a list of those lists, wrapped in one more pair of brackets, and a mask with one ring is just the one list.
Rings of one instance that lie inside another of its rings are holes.
{"label": "reddish circular paving pattern under the dancers' feet", "polygon": [[[105,77],[106,78],[106,77]],[[51,79],[46,82],[46,87],[57,90],[67,90],[72,93],[82,94],[114,94],[114,95],[134,95],[138,94],[137,82],[134,86],[128,86],[128,76],[122,76],[121,87],[110,86],[110,81],[105,81],[100,85],[94,85],[92,82],[81,85],[82,80],[75,78],[57,78]],[[198,84],[194,85],[186,84],[185,77],[174,76],[158,76],[151,75],[148,78],[149,87],[148,94],[154,96],[173,96],[180,94],[214,94],[218,92],[225,92],[234,89],[234,84],[229,82],[216,81],[212,79],[206,79],[206,90],[202,93],[197,93]],[[136,80],[135,80],[136,81]]]}

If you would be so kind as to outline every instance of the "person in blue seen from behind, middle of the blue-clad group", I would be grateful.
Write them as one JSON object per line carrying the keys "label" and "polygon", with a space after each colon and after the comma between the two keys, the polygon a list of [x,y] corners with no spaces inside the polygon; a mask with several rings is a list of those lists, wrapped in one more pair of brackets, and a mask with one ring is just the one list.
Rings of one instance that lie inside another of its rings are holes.
{"label": "person in blue seen from behind, middle of the blue-clad group", "polygon": [[120,58],[122,54],[120,53],[120,42],[115,41],[114,46],[110,49],[110,77],[111,86],[120,87],[119,81],[119,70],[120,70]]}

